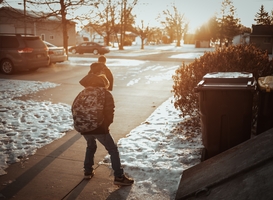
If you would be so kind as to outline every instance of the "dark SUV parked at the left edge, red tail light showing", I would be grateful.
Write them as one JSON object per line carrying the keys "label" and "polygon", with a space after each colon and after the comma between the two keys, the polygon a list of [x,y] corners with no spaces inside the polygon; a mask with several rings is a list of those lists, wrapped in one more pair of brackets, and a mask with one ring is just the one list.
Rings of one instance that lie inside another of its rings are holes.
{"label": "dark SUV parked at the left edge, red tail light showing", "polygon": [[1,72],[34,71],[48,66],[49,61],[48,48],[39,36],[0,34]]}

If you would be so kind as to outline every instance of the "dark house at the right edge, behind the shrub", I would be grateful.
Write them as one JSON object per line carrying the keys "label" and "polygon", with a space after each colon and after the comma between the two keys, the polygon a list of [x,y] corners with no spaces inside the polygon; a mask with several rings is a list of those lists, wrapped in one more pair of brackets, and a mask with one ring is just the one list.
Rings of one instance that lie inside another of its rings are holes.
{"label": "dark house at the right edge, behind the shrub", "polygon": [[250,43],[255,44],[268,54],[273,52],[273,25],[252,25]]}

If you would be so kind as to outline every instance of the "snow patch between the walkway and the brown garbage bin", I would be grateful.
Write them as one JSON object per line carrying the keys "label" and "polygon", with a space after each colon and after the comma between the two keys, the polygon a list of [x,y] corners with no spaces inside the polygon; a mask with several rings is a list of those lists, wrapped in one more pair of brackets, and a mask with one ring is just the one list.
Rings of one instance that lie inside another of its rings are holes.
{"label": "snow patch between the walkway and the brown garbage bin", "polygon": [[[135,179],[125,199],[174,199],[182,172],[200,162],[201,130],[183,127],[169,98],[118,141],[125,172]],[[110,163],[109,156],[100,164]],[[120,191],[122,194],[122,190]]]}

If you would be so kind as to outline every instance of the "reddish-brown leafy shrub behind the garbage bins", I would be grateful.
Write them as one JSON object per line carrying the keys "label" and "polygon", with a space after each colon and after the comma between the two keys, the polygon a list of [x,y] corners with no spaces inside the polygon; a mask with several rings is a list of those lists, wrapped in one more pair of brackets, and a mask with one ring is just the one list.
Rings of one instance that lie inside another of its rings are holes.
{"label": "reddish-brown leafy shrub behind the garbage bins", "polygon": [[[273,74],[272,61],[266,52],[254,45],[229,46],[204,55],[189,65],[183,63],[173,76],[174,106],[182,111],[183,117],[199,117],[197,86],[203,76],[210,72],[249,72],[258,77]],[[257,101],[254,102],[257,105]]]}

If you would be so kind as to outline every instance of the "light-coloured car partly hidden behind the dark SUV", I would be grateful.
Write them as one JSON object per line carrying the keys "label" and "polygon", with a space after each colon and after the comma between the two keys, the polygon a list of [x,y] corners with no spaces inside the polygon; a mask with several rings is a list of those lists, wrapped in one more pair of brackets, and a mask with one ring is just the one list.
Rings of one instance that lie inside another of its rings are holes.
{"label": "light-coloured car partly hidden behind the dark SUV", "polygon": [[63,47],[57,47],[54,44],[44,41],[48,48],[50,63],[64,62],[67,60],[67,54]]}

